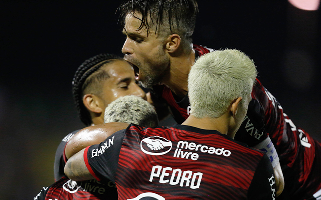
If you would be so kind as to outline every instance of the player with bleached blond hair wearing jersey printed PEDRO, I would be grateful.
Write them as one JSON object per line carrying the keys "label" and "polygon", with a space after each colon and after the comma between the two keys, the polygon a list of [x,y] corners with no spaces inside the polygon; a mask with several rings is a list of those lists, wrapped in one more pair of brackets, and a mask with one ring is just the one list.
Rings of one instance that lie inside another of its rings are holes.
{"label": "player with bleached blond hair wearing jersey printed PEDRO", "polygon": [[[252,60],[238,50],[201,57],[189,75],[191,115],[182,125],[130,124],[109,132],[104,142],[73,155],[66,175],[112,180],[119,199],[273,199],[267,155],[232,139],[246,115],[256,74]],[[77,134],[108,132],[106,125]]]}

